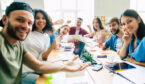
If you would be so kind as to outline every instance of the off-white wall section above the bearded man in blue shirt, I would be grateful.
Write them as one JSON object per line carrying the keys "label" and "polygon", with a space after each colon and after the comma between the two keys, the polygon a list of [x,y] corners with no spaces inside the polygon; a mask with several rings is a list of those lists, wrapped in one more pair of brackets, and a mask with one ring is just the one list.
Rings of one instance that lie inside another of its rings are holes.
{"label": "off-white wall section above the bearded man in blue shirt", "polygon": [[94,7],[95,16],[120,17],[130,8],[130,0],[94,0]]}

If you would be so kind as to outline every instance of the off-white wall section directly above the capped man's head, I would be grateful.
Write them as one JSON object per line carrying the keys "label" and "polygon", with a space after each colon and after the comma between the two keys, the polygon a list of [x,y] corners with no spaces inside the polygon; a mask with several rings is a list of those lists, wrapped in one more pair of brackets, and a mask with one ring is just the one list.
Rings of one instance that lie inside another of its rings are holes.
{"label": "off-white wall section directly above the capped man's head", "polygon": [[44,0],[14,0],[14,1],[26,2],[30,4],[30,6],[33,9],[44,9]]}

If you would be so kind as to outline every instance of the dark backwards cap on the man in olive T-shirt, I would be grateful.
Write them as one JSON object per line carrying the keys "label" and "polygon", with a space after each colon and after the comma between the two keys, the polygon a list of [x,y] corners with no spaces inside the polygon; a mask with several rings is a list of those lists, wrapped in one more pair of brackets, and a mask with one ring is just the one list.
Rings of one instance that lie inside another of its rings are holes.
{"label": "dark backwards cap on the man in olive T-shirt", "polygon": [[29,4],[25,2],[13,2],[6,8],[5,11],[6,16],[9,16],[10,13],[15,10],[26,10],[34,15],[33,9]]}

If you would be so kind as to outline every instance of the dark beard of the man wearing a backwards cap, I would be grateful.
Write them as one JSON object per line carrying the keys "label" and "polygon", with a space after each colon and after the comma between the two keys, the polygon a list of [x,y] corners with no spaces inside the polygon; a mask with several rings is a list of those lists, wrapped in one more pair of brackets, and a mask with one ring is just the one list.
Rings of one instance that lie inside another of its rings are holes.
{"label": "dark beard of the man wearing a backwards cap", "polygon": [[16,30],[19,29],[18,27],[14,28],[11,23],[8,21],[8,26],[7,26],[7,33],[14,39],[23,41],[24,39],[20,39],[16,35]]}

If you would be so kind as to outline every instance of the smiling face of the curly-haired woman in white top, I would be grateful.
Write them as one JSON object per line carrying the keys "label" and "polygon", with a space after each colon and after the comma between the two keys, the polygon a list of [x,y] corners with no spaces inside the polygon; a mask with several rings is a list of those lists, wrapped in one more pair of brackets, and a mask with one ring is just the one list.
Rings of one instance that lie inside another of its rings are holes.
{"label": "smiling face of the curly-haired woman in white top", "polygon": [[42,32],[42,30],[46,26],[46,19],[44,15],[40,12],[38,12],[35,16],[35,26],[36,26],[36,31],[38,32]]}

